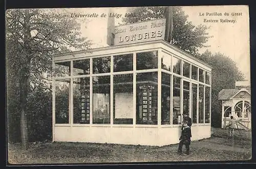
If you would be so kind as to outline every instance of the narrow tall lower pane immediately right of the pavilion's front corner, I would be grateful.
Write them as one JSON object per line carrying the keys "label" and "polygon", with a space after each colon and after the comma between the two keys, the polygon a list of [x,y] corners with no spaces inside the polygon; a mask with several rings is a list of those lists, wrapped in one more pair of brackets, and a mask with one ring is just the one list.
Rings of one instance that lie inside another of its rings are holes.
{"label": "narrow tall lower pane immediately right of the pavilion's front corner", "polygon": [[161,124],[170,124],[170,75],[162,73]]}

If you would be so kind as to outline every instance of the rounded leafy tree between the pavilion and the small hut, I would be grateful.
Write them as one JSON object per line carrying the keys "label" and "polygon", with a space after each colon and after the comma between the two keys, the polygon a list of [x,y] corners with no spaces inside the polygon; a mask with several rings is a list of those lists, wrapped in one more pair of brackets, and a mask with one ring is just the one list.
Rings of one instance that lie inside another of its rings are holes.
{"label": "rounded leafy tree between the pavilion and the small hut", "polygon": [[206,51],[199,59],[212,66],[211,77],[211,119],[212,126],[221,126],[221,101],[218,94],[222,89],[235,88],[236,81],[244,80],[244,75],[229,57],[221,54],[211,54]]}

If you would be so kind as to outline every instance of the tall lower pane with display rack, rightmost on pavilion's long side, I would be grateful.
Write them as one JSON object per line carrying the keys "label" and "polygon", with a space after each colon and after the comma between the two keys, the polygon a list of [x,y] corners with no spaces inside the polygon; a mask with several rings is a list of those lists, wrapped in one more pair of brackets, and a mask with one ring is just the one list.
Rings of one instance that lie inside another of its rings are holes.
{"label": "tall lower pane with display rack, rightmost on pavilion's long side", "polygon": [[157,125],[157,72],[136,77],[136,124]]}

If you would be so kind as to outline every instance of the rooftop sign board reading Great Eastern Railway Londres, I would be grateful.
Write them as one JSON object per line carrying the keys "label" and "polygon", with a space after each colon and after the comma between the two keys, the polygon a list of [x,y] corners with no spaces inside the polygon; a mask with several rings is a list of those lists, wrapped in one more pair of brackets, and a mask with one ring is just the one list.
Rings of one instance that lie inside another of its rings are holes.
{"label": "rooftop sign board reading Great Eastern Railway Londres", "polygon": [[114,45],[164,39],[165,18],[116,26]]}

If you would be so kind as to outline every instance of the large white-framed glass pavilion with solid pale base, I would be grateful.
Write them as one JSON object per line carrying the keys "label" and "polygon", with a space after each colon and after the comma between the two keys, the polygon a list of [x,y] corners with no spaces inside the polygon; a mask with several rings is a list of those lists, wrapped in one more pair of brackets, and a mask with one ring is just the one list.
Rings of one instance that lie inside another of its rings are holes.
{"label": "large white-framed glass pavilion with solid pale base", "polygon": [[183,112],[192,140],[210,137],[211,67],[161,31],[141,36],[151,40],[53,57],[53,141],[174,144]]}

